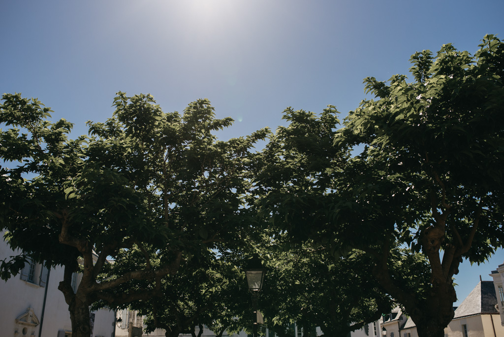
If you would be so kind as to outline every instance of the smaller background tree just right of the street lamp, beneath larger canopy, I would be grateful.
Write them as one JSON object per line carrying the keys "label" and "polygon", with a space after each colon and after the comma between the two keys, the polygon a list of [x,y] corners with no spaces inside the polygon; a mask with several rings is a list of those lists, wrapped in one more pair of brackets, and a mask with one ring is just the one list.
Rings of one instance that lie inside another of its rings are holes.
{"label": "smaller background tree just right of the street lamp, beneath larger canopy", "polygon": [[305,337],[318,326],[324,335],[346,336],[392,309],[363,252],[334,259],[324,247],[287,245],[283,252],[269,252],[264,294],[268,327],[295,322]]}

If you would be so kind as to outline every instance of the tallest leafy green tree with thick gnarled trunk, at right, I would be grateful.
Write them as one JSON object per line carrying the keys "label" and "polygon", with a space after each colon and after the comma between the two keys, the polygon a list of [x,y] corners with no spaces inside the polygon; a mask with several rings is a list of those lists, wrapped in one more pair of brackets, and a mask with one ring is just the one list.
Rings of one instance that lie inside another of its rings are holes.
{"label": "tallest leafy green tree with thick gnarled trunk, at right", "polygon": [[[320,118],[287,109],[290,125],[264,152],[257,203],[293,237],[335,255],[365,251],[419,335],[442,336],[460,262],[480,263],[504,242],[504,43],[487,35],[474,56],[446,44],[411,62],[411,83],[366,78],[376,100],[339,130],[333,106]],[[397,255],[398,246],[408,249]]]}

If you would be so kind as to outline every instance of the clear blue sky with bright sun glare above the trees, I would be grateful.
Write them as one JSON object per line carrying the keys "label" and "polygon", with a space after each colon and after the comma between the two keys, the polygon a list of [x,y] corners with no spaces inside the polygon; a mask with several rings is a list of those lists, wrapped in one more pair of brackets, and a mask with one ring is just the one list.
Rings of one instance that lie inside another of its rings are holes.
{"label": "clear blue sky with bright sun glare above the trees", "polygon": [[[0,13],[0,93],[38,98],[74,138],[111,117],[117,91],[151,93],[165,112],[209,98],[235,120],[222,139],[275,130],[288,106],[344,117],[365,77],[408,74],[415,51],[504,39],[502,0],[4,0]],[[456,305],[502,263],[502,250],[464,262]]]}

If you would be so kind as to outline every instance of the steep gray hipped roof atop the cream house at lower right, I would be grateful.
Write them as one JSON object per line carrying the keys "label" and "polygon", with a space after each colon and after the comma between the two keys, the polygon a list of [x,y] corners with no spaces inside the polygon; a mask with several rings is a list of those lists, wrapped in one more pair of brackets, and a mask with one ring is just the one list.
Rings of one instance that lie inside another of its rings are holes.
{"label": "steep gray hipped roof atop the cream house at lower right", "polygon": [[497,298],[493,282],[481,281],[455,310],[454,318],[478,314],[498,314],[495,304],[497,304]]}

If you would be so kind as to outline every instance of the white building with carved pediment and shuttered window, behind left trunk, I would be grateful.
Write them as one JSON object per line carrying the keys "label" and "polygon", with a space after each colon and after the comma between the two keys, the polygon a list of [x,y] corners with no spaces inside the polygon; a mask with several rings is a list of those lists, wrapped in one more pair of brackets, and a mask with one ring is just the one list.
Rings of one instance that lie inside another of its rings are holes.
{"label": "white building with carved pediment and shuttered window, behind left trunk", "polygon": [[[0,260],[13,255],[16,253],[0,240]],[[38,263],[27,263],[21,274],[7,282],[0,280],[0,336],[71,337],[68,304],[57,289],[63,273],[62,267],[48,270]],[[74,277],[74,286],[78,281]],[[113,337],[112,311],[93,312],[91,320],[94,320],[91,336]]]}

